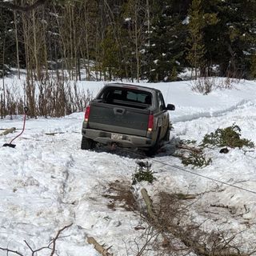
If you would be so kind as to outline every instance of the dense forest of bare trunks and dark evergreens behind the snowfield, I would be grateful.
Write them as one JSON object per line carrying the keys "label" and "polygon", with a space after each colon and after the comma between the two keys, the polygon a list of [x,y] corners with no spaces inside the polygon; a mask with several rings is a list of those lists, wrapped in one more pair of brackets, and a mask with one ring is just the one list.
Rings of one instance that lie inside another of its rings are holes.
{"label": "dense forest of bare trunks and dark evergreens behind the snowfield", "polygon": [[[0,1],[0,75],[75,81],[256,77],[255,0]],[[18,5],[18,8],[8,6]],[[23,9],[22,10],[22,6]]]}

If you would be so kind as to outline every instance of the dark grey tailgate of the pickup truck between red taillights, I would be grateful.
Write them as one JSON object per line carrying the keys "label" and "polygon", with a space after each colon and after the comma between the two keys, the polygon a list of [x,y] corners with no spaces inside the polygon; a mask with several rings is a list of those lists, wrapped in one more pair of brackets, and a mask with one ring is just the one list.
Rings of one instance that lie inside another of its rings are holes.
{"label": "dark grey tailgate of the pickup truck between red taillights", "polygon": [[150,110],[91,102],[89,128],[146,137],[149,114]]}

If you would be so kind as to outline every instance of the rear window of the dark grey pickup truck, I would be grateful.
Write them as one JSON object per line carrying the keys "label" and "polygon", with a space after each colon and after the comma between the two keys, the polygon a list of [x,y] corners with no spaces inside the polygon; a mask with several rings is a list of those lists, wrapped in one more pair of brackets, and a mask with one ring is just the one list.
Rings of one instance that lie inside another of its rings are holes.
{"label": "rear window of the dark grey pickup truck", "polygon": [[152,103],[152,94],[144,90],[133,90],[128,88],[107,87],[98,96],[102,102],[114,105],[133,106],[146,109]]}

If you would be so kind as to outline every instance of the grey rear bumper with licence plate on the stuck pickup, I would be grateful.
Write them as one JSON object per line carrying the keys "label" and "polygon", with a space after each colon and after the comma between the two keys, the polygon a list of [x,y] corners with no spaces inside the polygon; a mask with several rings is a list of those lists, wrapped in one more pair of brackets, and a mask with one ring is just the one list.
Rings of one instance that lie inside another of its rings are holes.
{"label": "grey rear bumper with licence plate on the stuck pickup", "polygon": [[152,146],[153,144],[153,141],[151,138],[144,138],[144,137],[139,137],[135,135],[111,133],[109,131],[104,131],[104,130],[82,128],[82,136],[86,138],[91,138],[94,140],[94,142],[100,142],[105,145],[116,143],[118,146],[121,146],[121,147],[146,148],[146,147]]}

